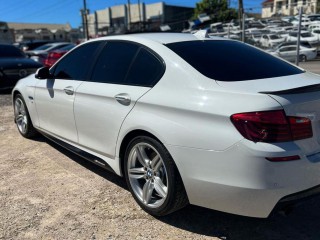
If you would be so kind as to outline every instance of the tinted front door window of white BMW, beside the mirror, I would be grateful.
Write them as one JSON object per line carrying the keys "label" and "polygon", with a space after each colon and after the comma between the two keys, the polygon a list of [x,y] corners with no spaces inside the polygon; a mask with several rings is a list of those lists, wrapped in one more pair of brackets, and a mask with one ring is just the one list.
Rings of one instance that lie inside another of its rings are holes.
{"label": "tinted front door window of white BMW, beside the mirror", "polygon": [[54,77],[85,80],[90,63],[94,61],[95,53],[100,44],[101,42],[87,43],[69,53],[54,67]]}

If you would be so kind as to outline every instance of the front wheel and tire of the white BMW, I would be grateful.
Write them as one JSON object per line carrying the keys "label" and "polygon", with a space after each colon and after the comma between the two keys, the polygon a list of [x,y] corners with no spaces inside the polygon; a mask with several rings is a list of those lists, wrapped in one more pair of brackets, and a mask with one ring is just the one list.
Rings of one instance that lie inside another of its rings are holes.
{"label": "front wheel and tire of the white BMW", "polygon": [[25,138],[34,138],[38,135],[37,130],[33,127],[27,105],[21,96],[17,94],[14,97],[14,120],[17,125],[19,133]]}

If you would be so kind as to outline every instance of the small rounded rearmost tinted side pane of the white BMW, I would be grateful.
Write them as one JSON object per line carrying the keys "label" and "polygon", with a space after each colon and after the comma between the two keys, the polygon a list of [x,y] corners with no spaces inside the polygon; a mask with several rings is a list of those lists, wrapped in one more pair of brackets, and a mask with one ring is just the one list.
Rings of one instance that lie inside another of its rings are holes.
{"label": "small rounded rearmost tinted side pane of the white BMW", "polygon": [[152,87],[164,73],[164,65],[156,56],[144,48],[140,51],[133,62],[126,84]]}

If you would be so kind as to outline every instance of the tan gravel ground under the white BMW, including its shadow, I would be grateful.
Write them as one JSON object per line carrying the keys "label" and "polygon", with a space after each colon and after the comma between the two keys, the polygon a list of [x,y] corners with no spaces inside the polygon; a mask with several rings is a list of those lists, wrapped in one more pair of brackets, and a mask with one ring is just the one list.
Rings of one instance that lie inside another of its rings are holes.
{"label": "tan gravel ground under the white BMW, including its shadow", "polygon": [[188,206],[154,218],[124,179],[43,137],[22,138],[0,93],[0,239],[320,239],[320,197],[255,219]]}

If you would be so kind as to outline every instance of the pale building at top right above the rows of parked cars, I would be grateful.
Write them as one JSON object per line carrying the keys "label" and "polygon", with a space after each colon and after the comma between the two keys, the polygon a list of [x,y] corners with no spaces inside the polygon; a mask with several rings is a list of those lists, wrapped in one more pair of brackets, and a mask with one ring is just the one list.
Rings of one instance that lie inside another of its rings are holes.
{"label": "pale building at top right above the rows of parked cars", "polygon": [[300,7],[303,7],[305,14],[315,14],[317,11],[317,1],[266,0],[262,3],[262,18],[297,15]]}

